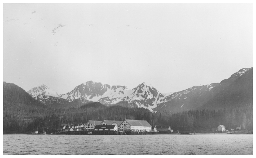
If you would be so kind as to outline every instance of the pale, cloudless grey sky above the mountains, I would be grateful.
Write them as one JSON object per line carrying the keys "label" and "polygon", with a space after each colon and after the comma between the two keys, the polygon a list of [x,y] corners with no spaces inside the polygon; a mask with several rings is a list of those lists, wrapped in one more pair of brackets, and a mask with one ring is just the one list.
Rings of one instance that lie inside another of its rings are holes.
{"label": "pale, cloudless grey sky above the mountains", "polygon": [[26,91],[176,92],[253,65],[252,4],[4,4],[3,20],[3,80]]}

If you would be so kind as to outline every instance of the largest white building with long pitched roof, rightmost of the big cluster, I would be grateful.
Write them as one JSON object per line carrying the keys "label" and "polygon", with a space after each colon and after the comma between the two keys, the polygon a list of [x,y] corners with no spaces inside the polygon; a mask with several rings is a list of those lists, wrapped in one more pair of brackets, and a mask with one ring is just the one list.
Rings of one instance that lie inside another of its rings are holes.
{"label": "largest white building with long pitched roof, rightmost of the big cluster", "polygon": [[124,120],[120,125],[121,131],[147,131],[151,132],[152,126],[144,120]]}

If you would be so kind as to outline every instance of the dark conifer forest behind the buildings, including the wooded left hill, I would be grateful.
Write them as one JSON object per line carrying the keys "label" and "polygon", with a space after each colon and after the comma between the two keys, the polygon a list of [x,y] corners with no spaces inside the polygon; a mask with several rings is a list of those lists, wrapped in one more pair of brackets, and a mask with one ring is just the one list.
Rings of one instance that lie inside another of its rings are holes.
{"label": "dark conifer forest behind the buildings, including the wooded left hill", "polygon": [[218,110],[190,110],[173,113],[170,111],[150,112],[145,108],[128,108],[125,103],[105,106],[88,103],[80,107],[46,106],[34,100],[22,88],[4,83],[4,133],[31,133],[39,128],[56,131],[61,125],[86,123],[88,120],[146,120],[154,127],[171,126],[174,132],[210,131],[219,124],[226,129],[252,129],[252,104],[240,104],[235,108]]}

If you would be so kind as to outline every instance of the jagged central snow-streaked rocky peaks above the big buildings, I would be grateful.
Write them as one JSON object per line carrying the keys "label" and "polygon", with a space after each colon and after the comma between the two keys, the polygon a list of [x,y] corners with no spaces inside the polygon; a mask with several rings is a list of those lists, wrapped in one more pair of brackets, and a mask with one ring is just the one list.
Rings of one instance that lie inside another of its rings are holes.
{"label": "jagged central snow-streaked rocky peaks above the big buildings", "polygon": [[110,87],[108,84],[94,83],[93,81],[82,83],[71,92],[60,95],[60,97],[69,101],[81,98],[107,105],[128,101],[132,107],[148,108],[151,111],[157,106],[159,98],[163,96],[154,87],[146,83],[141,83],[130,90],[125,86]]}

